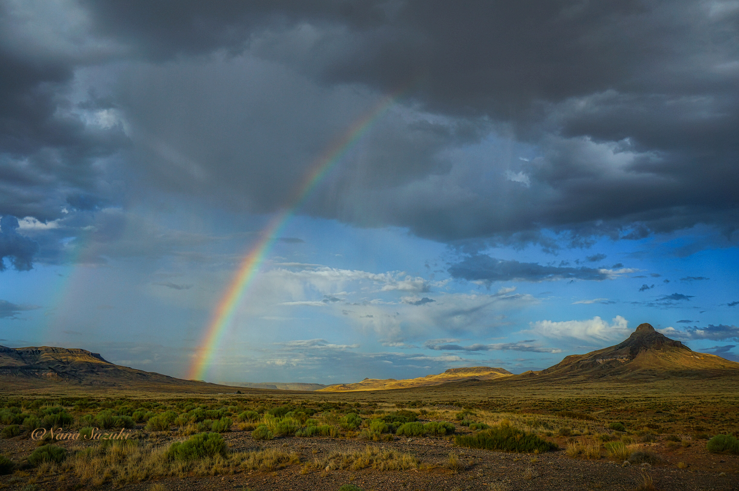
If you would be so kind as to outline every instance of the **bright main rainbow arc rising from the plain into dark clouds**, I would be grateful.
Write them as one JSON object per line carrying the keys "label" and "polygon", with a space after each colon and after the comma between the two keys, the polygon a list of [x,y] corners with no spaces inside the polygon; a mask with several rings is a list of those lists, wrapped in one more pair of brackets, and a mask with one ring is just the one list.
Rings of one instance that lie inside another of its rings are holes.
{"label": "bright main rainbow arc rising from the plain into dark clouds", "polygon": [[282,212],[278,213],[270,220],[267,227],[262,230],[262,234],[256,244],[253,244],[251,250],[244,256],[239,269],[231,280],[231,284],[225,290],[220,298],[211,321],[205,329],[200,344],[195,351],[193,361],[188,371],[188,378],[191,380],[202,380],[205,378],[205,372],[213,359],[216,348],[220,345],[226,328],[231,325],[234,318],[236,306],[239,300],[245,294],[248,286],[256,277],[259,268],[265,261],[267,254],[277,240],[277,236],[285,224],[301,207],[305,199],[310,196],[310,192],[321,179],[341,160],[350,148],[367,132],[372,123],[375,123],[387,111],[400,95],[401,91],[383,97],[383,99],[375,105],[374,109],[368,111],[359,120],[355,121],[349,130],[344,133],[336,143],[331,145],[324,154],[321,155],[316,163],[310,168],[303,182],[297,187],[298,193],[293,199],[292,205]]}

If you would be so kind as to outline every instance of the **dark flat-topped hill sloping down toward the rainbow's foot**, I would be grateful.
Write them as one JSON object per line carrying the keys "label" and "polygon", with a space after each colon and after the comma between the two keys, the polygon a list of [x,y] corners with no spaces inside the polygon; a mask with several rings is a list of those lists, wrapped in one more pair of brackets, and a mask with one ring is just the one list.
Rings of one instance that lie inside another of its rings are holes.
{"label": "dark flat-topped hill sloping down toward the rainbow's foot", "polygon": [[0,392],[50,386],[117,387],[129,390],[235,392],[236,388],[183,380],[115,365],[79,348],[0,346]]}

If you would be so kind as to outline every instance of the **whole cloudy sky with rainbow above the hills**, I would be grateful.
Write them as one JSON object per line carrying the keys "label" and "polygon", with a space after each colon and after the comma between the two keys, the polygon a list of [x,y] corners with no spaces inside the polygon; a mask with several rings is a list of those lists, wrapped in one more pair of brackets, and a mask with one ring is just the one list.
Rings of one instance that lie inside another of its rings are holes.
{"label": "whole cloudy sky with rainbow above the hills", "polygon": [[739,1],[0,1],[0,344],[209,382],[739,360]]}

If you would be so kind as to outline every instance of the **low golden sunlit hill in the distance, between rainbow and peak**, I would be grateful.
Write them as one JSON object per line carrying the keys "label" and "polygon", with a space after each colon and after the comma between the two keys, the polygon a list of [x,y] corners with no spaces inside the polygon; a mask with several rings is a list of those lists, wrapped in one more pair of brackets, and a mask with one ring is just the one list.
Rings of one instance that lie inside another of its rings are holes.
{"label": "low golden sunlit hill in the distance, between rainbow and peak", "polygon": [[426,375],[426,377],[417,379],[364,379],[353,384],[329,385],[319,389],[318,392],[386,391],[394,388],[428,387],[466,380],[494,380],[511,375],[513,374],[508,370],[489,366],[449,368],[443,374]]}

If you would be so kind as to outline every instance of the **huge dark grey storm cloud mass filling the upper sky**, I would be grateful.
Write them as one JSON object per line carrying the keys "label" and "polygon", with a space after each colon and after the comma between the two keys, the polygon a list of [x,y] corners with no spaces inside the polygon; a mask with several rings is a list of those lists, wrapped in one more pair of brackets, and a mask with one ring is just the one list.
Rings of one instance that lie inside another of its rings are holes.
{"label": "huge dark grey storm cloud mass filling the upper sky", "polygon": [[[80,5],[69,18],[87,24],[76,30],[45,14],[62,26],[48,39],[3,7],[0,214],[45,222],[64,205],[118,203],[114,183],[133,182],[128,171],[145,177],[137,185],[276,210],[378,92],[406,89],[302,213],[472,250],[556,250],[698,223],[735,237],[739,10],[729,4]],[[535,156],[453,158],[488,131]],[[125,171],[98,165],[118,154]]]}

